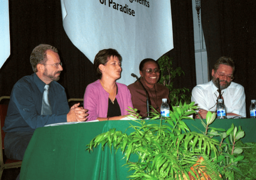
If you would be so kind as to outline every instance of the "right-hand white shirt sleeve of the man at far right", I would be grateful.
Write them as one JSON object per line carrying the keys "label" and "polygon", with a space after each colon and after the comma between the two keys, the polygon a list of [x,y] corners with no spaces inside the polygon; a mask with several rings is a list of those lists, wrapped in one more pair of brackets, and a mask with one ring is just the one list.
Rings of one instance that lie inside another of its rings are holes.
{"label": "right-hand white shirt sleeve of the man at far right", "polygon": [[234,95],[233,105],[231,112],[246,117],[246,105],[245,105],[245,89],[243,86],[237,88]]}

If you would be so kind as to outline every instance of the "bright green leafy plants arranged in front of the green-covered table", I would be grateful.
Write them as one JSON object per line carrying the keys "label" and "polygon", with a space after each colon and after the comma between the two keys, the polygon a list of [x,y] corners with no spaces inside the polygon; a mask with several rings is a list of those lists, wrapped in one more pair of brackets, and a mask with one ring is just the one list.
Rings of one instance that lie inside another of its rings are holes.
{"label": "bright green leafy plants arranged in front of the green-covered table", "polygon": [[[182,120],[193,121],[188,115],[195,113],[195,110],[194,102],[180,102],[179,107],[173,107],[170,117],[154,112],[151,113],[152,119],[157,120],[134,120],[136,125],[129,127],[134,130],[130,135],[110,129],[91,140],[87,150],[92,151],[100,144],[102,150],[105,145],[110,149],[112,146],[120,149],[133,172],[129,176],[133,180],[200,179],[197,178],[199,173],[212,180],[235,179],[235,173],[242,173],[238,164],[244,159],[241,155],[243,150],[236,143],[245,133],[233,124],[227,131],[211,128],[215,113],[208,113],[206,122],[202,120],[205,132],[191,132]],[[216,136],[222,141],[219,142]],[[138,156],[137,162],[129,160],[133,154]],[[204,159],[202,162],[198,161],[200,157]],[[191,169],[192,166],[196,170]]]}

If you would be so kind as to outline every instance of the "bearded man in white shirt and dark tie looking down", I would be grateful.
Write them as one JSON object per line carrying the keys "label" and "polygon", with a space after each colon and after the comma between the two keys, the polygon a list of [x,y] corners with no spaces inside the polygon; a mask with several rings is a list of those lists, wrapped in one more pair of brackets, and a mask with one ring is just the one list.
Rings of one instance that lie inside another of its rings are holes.
{"label": "bearded man in white shirt and dark tie looking down", "polygon": [[[199,84],[192,90],[191,101],[199,106],[201,118],[205,119],[208,111],[215,112],[219,97],[219,86],[227,109],[227,115],[246,117],[245,90],[240,84],[232,82],[235,63],[230,57],[220,57],[212,70],[212,81]],[[219,78],[219,82],[217,80]],[[196,115],[196,118],[200,118]]]}

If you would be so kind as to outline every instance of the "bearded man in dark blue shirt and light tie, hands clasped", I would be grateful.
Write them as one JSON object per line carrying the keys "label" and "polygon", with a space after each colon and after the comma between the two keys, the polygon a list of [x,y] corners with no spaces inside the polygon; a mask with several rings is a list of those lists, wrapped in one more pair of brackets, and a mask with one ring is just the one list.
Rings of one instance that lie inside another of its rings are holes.
{"label": "bearded man in dark blue shirt and light tie, hands clasped", "polygon": [[87,110],[79,103],[69,109],[64,87],[56,81],[63,70],[58,51],[41,44],[30,56],[34,74],[13,87],[3,127],[7,158],[23,160],[26,147],[38,127],[48,124],[86,121]]}

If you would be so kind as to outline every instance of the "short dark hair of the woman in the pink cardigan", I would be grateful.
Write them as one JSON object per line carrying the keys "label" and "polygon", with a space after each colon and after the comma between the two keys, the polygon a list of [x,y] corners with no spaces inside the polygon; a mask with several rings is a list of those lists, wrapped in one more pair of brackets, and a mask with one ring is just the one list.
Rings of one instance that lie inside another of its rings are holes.
{"label": "short dark hair of the woman in the pink cardigan", "polygon": [[102,77],[99,65],[105,65],[111,56],[116,56],[122,62],[122,56],[115,49],[102,49],[96,54],[94,58],[94,70],[98,79]]}

